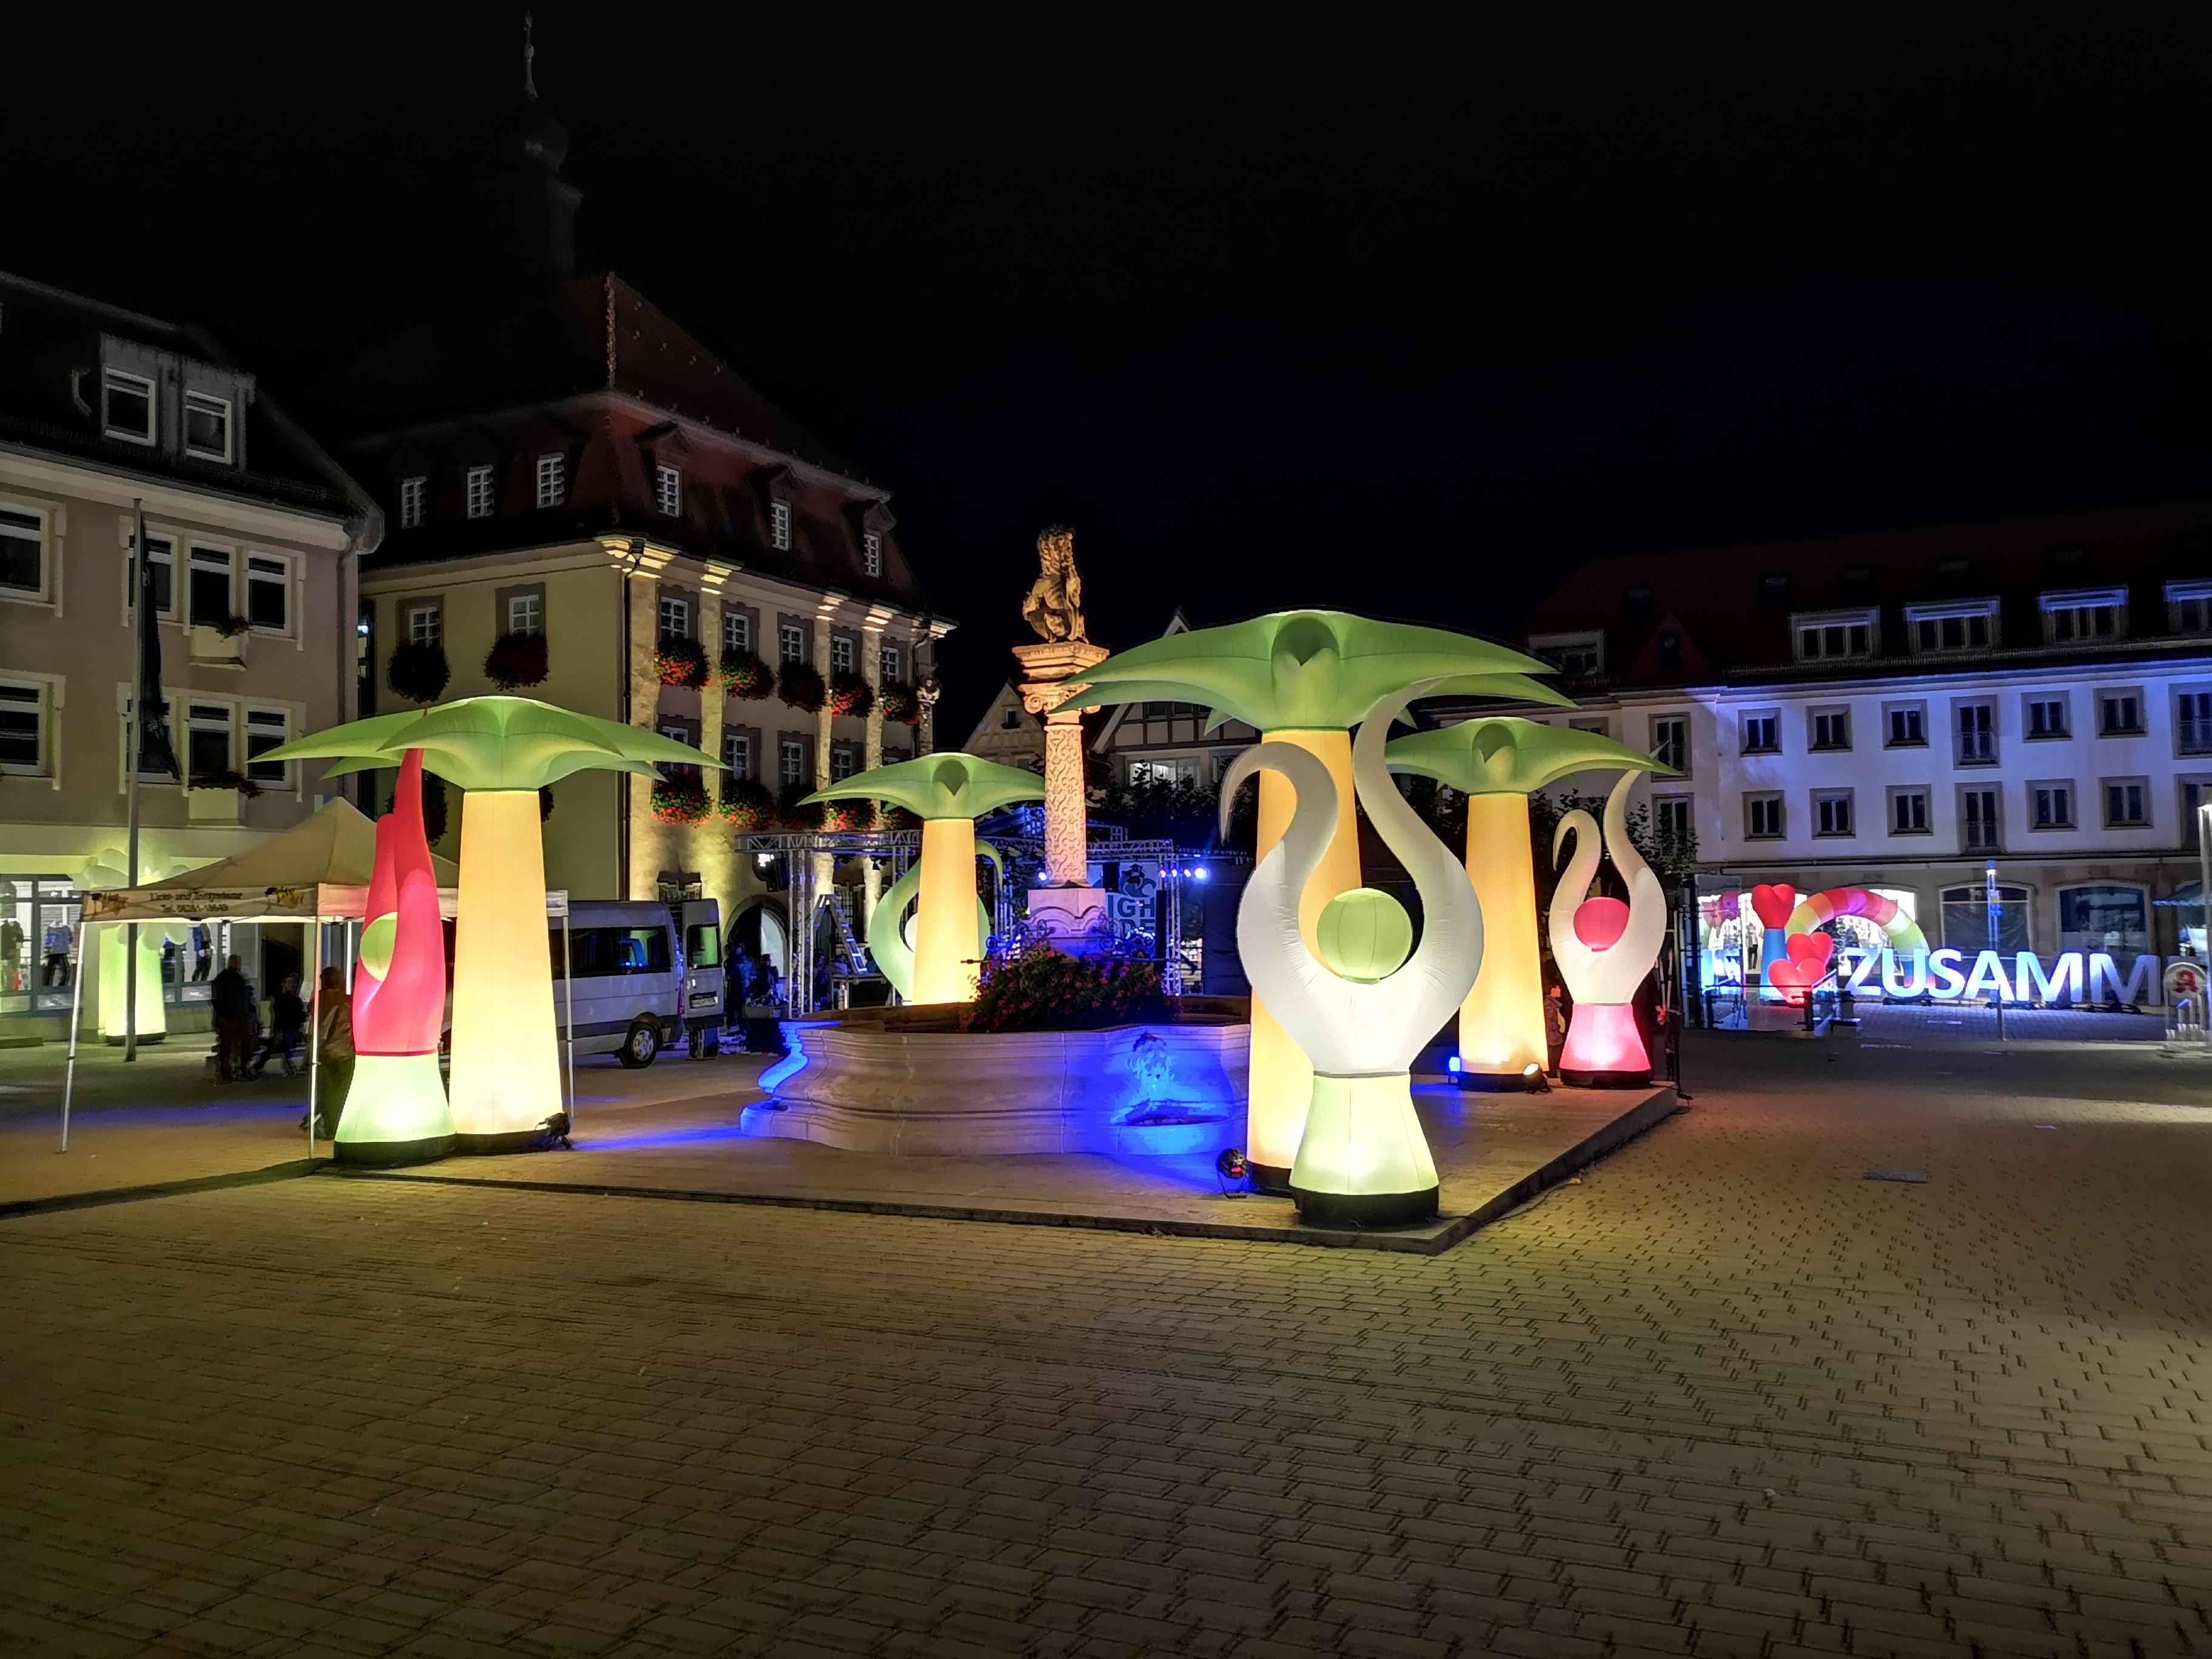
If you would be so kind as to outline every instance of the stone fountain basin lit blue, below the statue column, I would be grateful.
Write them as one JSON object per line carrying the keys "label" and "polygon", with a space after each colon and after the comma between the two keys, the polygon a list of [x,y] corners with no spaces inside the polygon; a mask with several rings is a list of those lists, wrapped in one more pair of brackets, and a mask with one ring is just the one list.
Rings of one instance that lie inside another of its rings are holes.
{"label": "stone fountain basin lit blue, below the statue column", "polygon": [[[956,1006],[785,1020],[745,1130],[849,1152],[1177,1157],[1243,1144],[1252,1026],[1223,1002],[1164,1024],[962,1033]],[[1139,1073],[1157,1035],[1168,1079]],[[1144,1121],[1130,1121],[1144,1119]]]}

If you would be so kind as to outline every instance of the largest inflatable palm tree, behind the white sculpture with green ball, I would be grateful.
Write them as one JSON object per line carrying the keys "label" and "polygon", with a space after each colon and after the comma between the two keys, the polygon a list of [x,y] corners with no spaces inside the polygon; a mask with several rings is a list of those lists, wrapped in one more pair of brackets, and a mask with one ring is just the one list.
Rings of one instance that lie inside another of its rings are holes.
{"label": "largest inflatable palm tree, behind the white sculpture with green ball", "polygon": [[[1214,723],[1239,719],[1263,743],[1296,743],[1336,781],[1336,823],[1305,878],[1298,925],[1316,949],[1316,922],[1338,894],[1360,885],[1360,845],[1352,790],[1352,728],[1385,697],[1416,681],[1436,695],[1513,697],[1571,708],[1573,701],[1531,675],[1548,664],[1444,628],[1369,622],[1343,611],[1279,611],[1228,628],[1168,635],[1082,672],[1084,690],[1064,708],[1102,703],[1203,703]],[[1296,790],[1276,768],[1259,781],[1259,856],[1283,838]],[[1281,1188],[1298,1155],[1314,1068],[1261,995],[1252,998],[1252,1106],[1248,1152],[1261,1181]]]}

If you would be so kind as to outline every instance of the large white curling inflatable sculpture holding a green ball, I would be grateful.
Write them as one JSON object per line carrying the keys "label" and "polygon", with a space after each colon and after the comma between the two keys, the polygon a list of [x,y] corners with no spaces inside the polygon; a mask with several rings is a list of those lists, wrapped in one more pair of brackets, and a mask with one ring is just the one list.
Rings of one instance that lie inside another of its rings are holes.
{"label": "large white curling inflatable sculpture holding a green ball", "polygon": [[1252,989],[1314,1064],[1314,1099],[1290,1172],[1303,1221],[1389,1225],[1436,1214],[1436,1159],[1413,1115],[1409,1071],[1482,969],[1482,905],[1383,759],[1391,721],[1436,684],[1385,699],[1352,745],[1367,818],[1420,894],[1420,949],[1411,956],[1411,918],[1371,887],[1338,894],[1323,909],[1314,929],[1321,960],[1305,947],[1298,896],[1336,834],[1327,765],[1294,743],[1256,743],[1221,781],[1223,818],[1237,787],[1261,770],[1281,772],[1298,796],[1283,841],[1245,885],[1237,949]]}

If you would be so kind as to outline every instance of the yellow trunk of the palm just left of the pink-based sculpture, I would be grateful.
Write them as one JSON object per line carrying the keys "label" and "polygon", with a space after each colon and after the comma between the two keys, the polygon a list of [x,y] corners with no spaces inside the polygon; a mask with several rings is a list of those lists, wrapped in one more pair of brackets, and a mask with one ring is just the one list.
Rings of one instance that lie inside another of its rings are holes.
{"label": "yellow trunk of the palm just left of the pink-based sculpture", "polygon": [[1482,973],[1460,1004],[1460,1073],[1517,1084],[1551,1060],[1528,796],[1467,796],[1467,878],[1482,900]]}

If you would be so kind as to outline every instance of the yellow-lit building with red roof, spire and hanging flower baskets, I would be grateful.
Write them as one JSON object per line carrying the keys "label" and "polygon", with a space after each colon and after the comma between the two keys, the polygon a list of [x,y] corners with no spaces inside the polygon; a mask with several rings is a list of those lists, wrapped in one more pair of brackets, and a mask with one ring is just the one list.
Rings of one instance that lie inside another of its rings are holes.
{"label": "yellow-lit building with red roof, spire and hanging flower baskets", "polygon": [[779,898],[737,834],[763,790],[927,752],[951,624],[887,489],[626,281],[575,274],[566,137],[535,102],[515,133],[500,285],[319,396],[387,520],[361,571],[361,706],[405,708],[442,655],[442,697],[518,690],[717,754],[701,781],[557,783],[546,874],[586,898],[719,898],[774,951]]}

